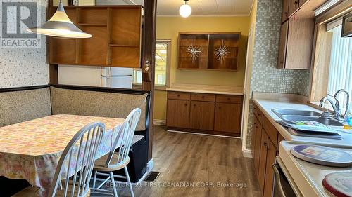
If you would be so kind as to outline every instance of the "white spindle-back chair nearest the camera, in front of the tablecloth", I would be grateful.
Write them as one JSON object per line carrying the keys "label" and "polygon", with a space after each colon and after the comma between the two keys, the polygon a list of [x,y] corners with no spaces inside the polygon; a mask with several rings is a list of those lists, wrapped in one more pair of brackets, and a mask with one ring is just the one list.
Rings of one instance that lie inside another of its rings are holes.
{"label": "white spindle-back chair nearest the camera, in front of the tablecloth", "polygon": [[[105,125],[95,122],[85,125],[73,136],[58,161],[49,197],[90,196],[89,182],[104,131]],[[16,193],[15,197],[37,196],[37,190],[29,187]]]}

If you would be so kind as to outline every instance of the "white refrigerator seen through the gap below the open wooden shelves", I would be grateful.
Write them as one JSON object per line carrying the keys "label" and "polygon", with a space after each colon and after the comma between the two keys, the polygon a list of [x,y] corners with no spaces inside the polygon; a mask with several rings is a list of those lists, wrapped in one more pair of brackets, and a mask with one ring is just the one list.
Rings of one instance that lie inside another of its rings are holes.
{"label": "white refrigerator seen through the gap below the open wooden shelves", "polygon": [[132,89],[133,69],[58,65],[58,83]]}

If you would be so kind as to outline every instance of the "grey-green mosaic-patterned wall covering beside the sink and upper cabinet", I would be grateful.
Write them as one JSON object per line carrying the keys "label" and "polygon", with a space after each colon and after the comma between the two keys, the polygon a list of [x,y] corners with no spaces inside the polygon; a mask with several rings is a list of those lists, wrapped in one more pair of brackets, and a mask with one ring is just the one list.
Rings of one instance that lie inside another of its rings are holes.
{"label": "grey-green mosaic-patterned wall covering beside the sink and upper cabinet", "polygon": [[[258,0],[251,92],[308,95],[310,80],[308,70],[276,69],[281,10],[281,0]],[[251,148],[252,118],[253,106],[251,105],[247,149]]]}

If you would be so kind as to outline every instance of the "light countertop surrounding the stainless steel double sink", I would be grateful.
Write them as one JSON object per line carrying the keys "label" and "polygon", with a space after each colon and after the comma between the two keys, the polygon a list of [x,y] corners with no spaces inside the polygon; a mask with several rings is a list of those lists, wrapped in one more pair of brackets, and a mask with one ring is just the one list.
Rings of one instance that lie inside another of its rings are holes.
{"label": "light countertop surrounding the stainless steel double sink", "polygon": [[339,131],[337,131],[337,133],[341,135],[341,139],[326,139],[320,137],[302,137],[292,135],[286,128],[284,128],[279,123],[275,122],[276,120],[280,120],[280,118],[276,114],[274,114],[274,112],[271,111],[272,109],[300,109],[307,111],[322,112],[318,109],[310,107],[307,104],[291,101],[254,98],[253,102],[258,105],[260,111],[263,112],[263,114],[269,119],[270,123],[275,126],[275,128],[279,131],[279,133],[282,135],[282,137],[284,137],[285,140],[306,144],[327,145],[329,147],[352,148],[352,130],[341,130],[341,127],[331,127],[333,129],[339,128]]}

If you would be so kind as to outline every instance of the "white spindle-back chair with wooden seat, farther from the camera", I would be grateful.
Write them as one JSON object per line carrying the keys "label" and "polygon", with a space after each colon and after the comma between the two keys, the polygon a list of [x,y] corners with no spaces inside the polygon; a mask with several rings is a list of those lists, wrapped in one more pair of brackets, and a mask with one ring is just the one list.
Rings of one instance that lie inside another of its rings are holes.
{"label": "white spindle-back chair with wooden seat, farther from the camera", "polygon": [[[130,157],[128,156],[128,154],[130,152],[134,131],[136,130],[137,123],[139,121],[140,116],[141,116],[141,109],[139,108],[133,109],[125,119],[124,123],[122,124],[122,127],[119,130],[117,137],[113,141],[113,146],[111,147],[111,151],[105,156],[96,160],[93,168],[94,177],[93,177],[92,192],[101,193],[101,194],[113,193],[113,196],[118,197],[118,191],[116,189],[116,184],[114,179],[114,177],[117,177],[117,178],[127,179],[127,182],[130,187],[131,196],[134,197],[130,175],[128,174],[128,170],[127,170],[127,164],[130,163]],[[122,168],[125,170],[125,176],[113,175],[114,171],[120,170]],[[107,176],[107,178],[104,179],[104,181],[97,187],[96,187],[96,175]],[[113,185],[113,192],[106,189],[101,189],[101,186],[103,186],[103,184],[108,182],[108,180],[110,180],[111,184]]]}

